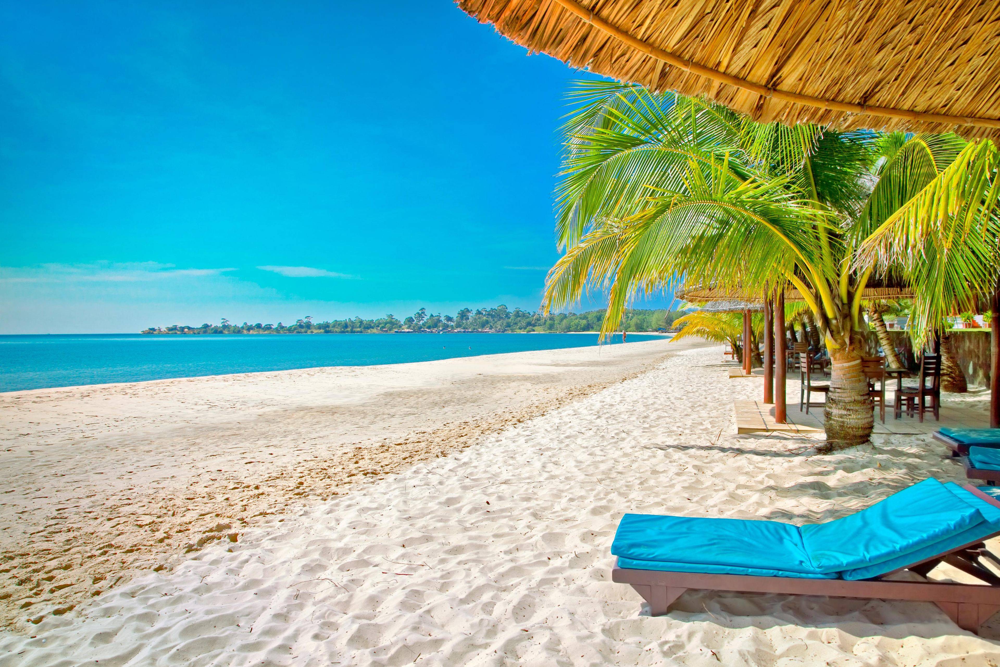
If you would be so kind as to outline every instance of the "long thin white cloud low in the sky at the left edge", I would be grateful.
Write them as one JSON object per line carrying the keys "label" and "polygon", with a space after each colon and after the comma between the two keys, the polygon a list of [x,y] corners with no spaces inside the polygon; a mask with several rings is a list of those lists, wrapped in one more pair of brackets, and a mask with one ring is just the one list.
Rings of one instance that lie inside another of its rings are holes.
{"label": "long thin white cloud low in the sky at the left edge", "polygon": [[94,262],[91,264],[39,264],[37,266],[0,266],[0,282],[143,282],[176,278],[217,276],[225,269],[179,269],[158,262]]}

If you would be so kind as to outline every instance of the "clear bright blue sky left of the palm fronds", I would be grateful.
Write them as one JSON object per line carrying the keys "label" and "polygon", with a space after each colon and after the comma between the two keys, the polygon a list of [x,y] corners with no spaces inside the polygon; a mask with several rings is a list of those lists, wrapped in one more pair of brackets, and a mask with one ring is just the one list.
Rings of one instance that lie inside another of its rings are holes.
{"label": "clear bright blue sky left of the palm fronds", "polygon": [[0,333],[534,309],[582,76],[448,0],[2,0]]}

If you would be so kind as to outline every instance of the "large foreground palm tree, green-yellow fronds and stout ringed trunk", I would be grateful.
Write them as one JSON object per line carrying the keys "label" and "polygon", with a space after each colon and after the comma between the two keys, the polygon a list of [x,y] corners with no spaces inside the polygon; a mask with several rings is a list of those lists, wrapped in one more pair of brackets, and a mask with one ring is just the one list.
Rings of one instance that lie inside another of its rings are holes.
{"label": "large foreground palm tree, green-yellow fronds and stout ringed trunk", "polygon": [[676,276],[748,296],[794,288],[830,352],[834,446],[866,442],[873,425],[861,372],[865,288],[910,283],[925,325],[987,291],[1000,191],[988,141],[761,124],[610,82],[572,97],[556,189],[566,253],[544,307],[607,289],[606,334],[632,296]]}

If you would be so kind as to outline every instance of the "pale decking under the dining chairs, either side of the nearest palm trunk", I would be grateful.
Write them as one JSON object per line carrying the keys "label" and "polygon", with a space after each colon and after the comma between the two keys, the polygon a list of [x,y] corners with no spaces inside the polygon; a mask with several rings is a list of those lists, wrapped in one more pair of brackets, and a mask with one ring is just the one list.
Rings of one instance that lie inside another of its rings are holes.
{"label": "pale decking under the dining chairs, either side of the nearest palm trunk", "polygon": [[[931,433],[942,426],[958,428],[988,428],[989,418],[979,410],[972,408],[961,408],[942,406],[941,421],[934,421],[933,414],[924,414],[924,423],[920,423],[916,417],[902,415],[898,420],[892,418],[893,397],[887,392],[886,400],[888,406],[885,411],[885,423],[879,419],[878,410],[875,410],[875,433],[896,433],[896,434],[919,434]],[[766,431],[778,431],[784,433],[818,433],[823,431],[823,408],[811,407],[809,414],[805,410],[799,412],[799,403],[789,401],[788,423],[779,424],[774,419],[774,406],[761,401],[735,401],[733,407],[736,412],[737,433],[759,433]]]}

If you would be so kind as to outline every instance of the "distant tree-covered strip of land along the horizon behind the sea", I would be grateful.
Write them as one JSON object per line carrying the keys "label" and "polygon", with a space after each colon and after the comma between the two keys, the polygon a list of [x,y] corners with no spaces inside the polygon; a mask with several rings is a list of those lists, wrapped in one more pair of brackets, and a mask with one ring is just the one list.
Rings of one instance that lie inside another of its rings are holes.
{"label": "distant tree-covered strip of land along the horizon behind the sea", "polygon": [[[676,310],[628,310],[620,331],[666,331],[681,316]],[[232,324],[224,319],[220,324],[187,326],[174,324],[168,327],[149,327],[144,334],[324,334],[324,333],[576,333],[600,331],[604,321],[603,310],[585,313],[541,313],[500,305],[473,311],[463,308],[454,316],[428,314],[421,308],[403,320],[386,315],[377,320],[355,317],[348,320],[313,322],[306,316],[295,324]]]}

